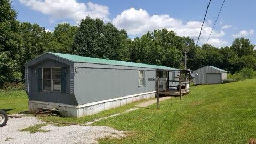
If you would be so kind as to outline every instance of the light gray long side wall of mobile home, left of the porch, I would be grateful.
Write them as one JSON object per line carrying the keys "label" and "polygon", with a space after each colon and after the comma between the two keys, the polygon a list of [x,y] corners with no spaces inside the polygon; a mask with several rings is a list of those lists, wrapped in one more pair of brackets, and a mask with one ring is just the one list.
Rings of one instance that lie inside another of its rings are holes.
{"label": "light gray long side wall of mobile home, left of the porch", "polygon": [[[155,91],[155,69],[75,63],[78,105]],[[146,86],[138,87],[138,70],[145,70]]]}

